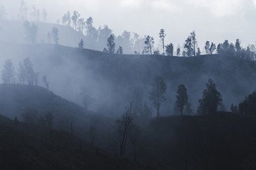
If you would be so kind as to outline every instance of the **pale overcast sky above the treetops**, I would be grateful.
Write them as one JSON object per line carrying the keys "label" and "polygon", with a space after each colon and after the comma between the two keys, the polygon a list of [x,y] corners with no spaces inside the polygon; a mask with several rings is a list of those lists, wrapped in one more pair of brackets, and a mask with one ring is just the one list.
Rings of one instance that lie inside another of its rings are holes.
{"label": "pale overcast sky above the treetops", "polygon": [[[0,0],[7,18],[18,18],[21,0]],[[255,43],[256,0],[25,0],[31,6],[46,8],[47,21],[56,23],[66,11],[77,10],[83,18],[92,16],[94,26],[107,24],[119,35],[123,30],[152,35],[157,41],[161,28],[166,42],[182,45],[191,31],[196,30],[198,43],[206,40]],[[29,18],[28,18],[29,19]]]}

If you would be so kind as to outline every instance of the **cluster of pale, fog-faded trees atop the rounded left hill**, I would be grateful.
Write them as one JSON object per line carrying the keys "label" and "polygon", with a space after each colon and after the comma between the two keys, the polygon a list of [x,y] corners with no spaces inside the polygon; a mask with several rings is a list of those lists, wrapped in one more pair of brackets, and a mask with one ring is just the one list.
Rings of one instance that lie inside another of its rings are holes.
{"label": "cluster of pale, fog-faded trees atop the rounded left hill", "polygon": [[[31,60],[28,57],[26,57],[22,62],[18,64],[18,66],[18,72],[16,73],[14,69],[14,64],[11,62],[10,59],[4,62],[4,68],[1,71],[1,78],[4,84],[15,83],[15,76],[17,75],[18,82],[20,84],[37,86],[39,73],[34,71]],[[42,81],[48,89],[49,83],[47,81],[46,75],[43,76]]]}

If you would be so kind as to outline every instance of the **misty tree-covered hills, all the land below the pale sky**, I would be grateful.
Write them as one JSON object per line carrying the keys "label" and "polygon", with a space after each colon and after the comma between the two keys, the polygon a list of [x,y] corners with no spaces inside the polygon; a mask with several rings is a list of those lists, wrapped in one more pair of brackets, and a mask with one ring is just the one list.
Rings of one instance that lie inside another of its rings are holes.
{"label": "misty tree-covered hills, all the land below the pale sky", "polygon": [[0,169],[256,169],[255,42],[16,6],[0,1]]}

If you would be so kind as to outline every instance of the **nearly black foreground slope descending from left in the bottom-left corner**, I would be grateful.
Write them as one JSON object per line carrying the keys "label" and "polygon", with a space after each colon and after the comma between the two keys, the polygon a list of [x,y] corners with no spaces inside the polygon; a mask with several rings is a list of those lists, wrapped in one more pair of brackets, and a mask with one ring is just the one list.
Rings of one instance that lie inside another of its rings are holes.
{"label": "nearly black foreground slope descending from left in the bottom-left corner", "polygon": [[2,170],[152,169],[104,152],[63,131],[14,122],[0,115]]}

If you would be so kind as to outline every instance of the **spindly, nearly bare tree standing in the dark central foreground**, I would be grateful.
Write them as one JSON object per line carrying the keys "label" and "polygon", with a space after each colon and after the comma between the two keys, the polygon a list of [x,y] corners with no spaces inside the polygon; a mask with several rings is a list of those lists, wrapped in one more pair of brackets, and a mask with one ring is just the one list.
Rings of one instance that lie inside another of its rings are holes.
{"label": "spindly, nearly bare tree standing in the dark central foreground", "polygon": [[127,145],[127,137],[129,134],[130,127],[133,123],[136,115],[132,113],[132,103],[129,104],[128,108],[125,108],[125,112],[122,115],[122,119],[116,120],[117,123],[117,132],[119,135],[119,157],[122,157],[124,154],[124,149]]}

